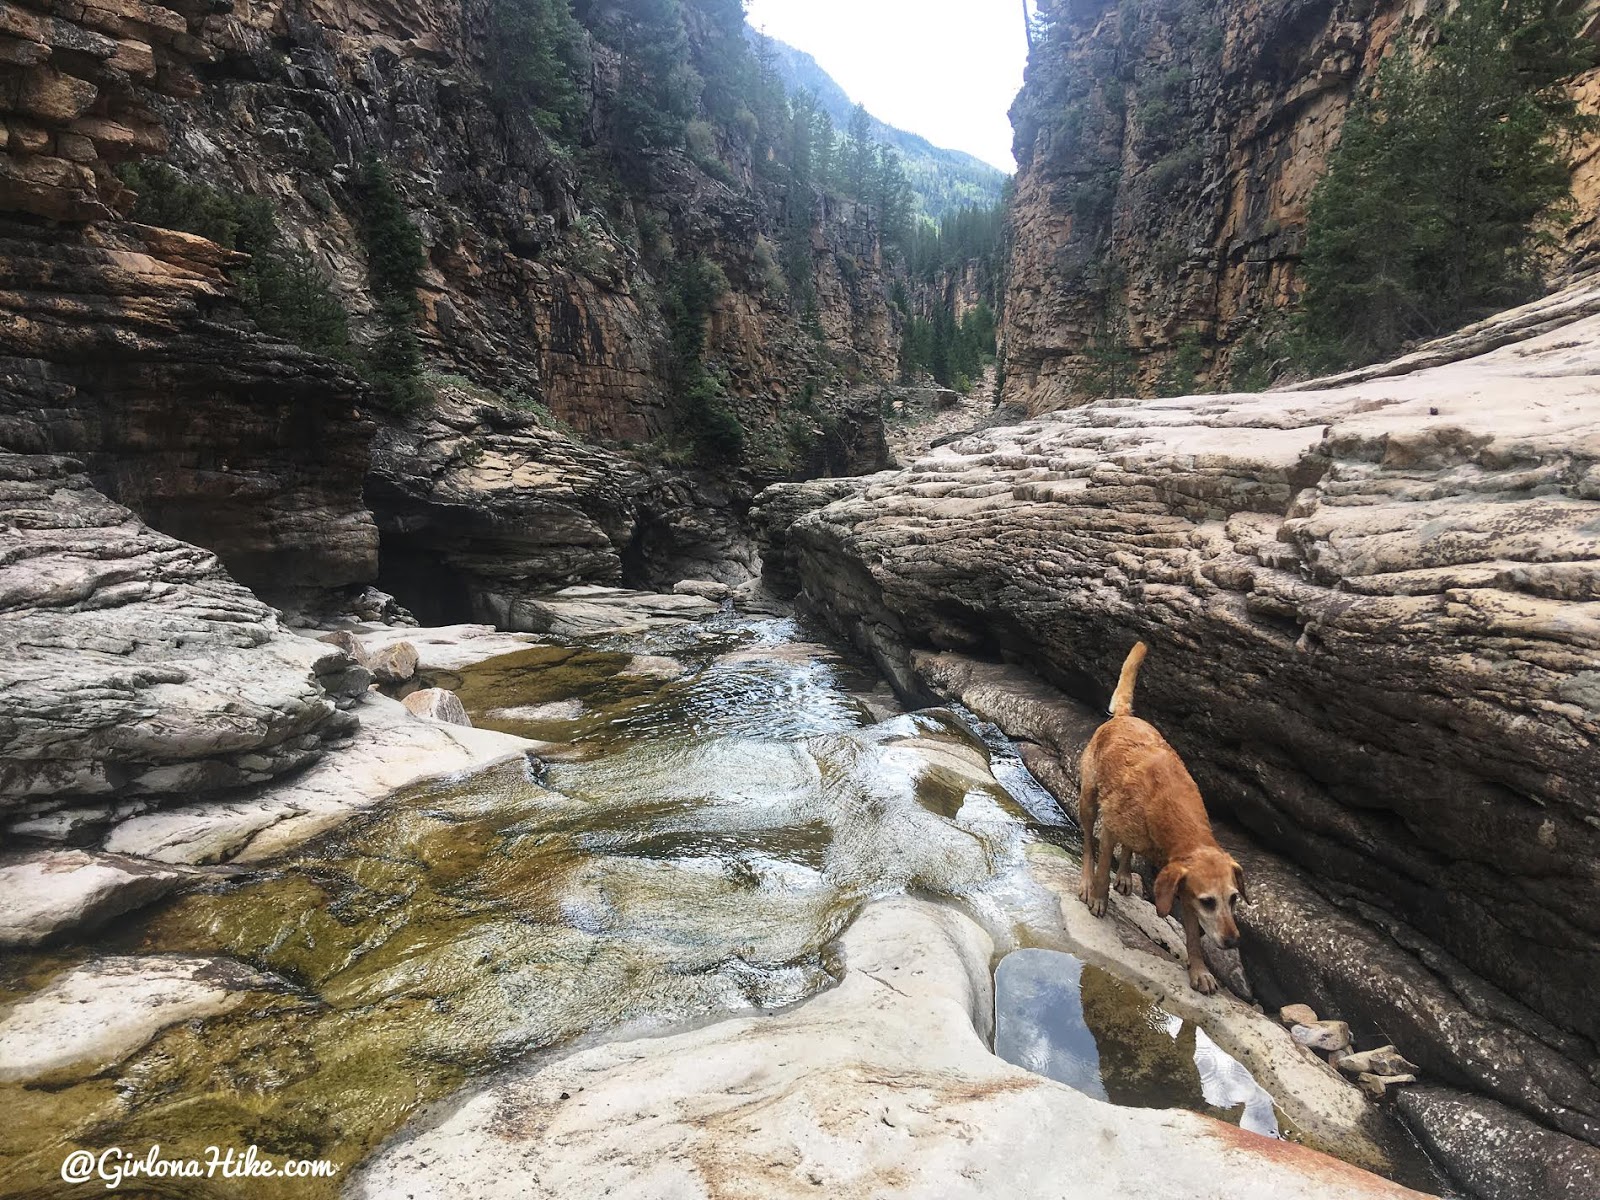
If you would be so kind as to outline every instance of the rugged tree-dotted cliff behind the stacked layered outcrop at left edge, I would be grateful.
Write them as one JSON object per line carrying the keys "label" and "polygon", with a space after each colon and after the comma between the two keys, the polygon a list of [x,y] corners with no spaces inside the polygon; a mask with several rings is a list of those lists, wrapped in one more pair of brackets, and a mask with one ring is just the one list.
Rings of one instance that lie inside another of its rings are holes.
{"label": "rugged tree-dotted cliff behind the stacked layered outcrop at left edge", "polygon": [[[776,419],[784,398],[824,374],[827,358],[893,373],[896,331],[866,210],[819,206],[819,346],[771,288],[763,256],[778,235],[781,195],[755,176],[747,154],[739,162],[738,147],[717,147],[733,163],[722,178],[688,155],[662,154],[621,218],[603,211],[594,179],[581,184],[589,168],[493,102],[486,10],[482,0],[274,0],[211,18],[205,90],[160,106],[170,160],[270,197],[360,315],[371,298],[349,182],[363,155],[381,155],[427,243],[429,357],[541,400],[584,437],[645,442],[672,424],[664,280],[642,266],[645,243],[662,237],[680,258],[710,258],[730,278],[709,355],[726,370],[749,424]],[[590,122],[600,122],[624,67],[600,43],[592,53],[586,86]],[[597,125],[587,136],[610,134]]]}

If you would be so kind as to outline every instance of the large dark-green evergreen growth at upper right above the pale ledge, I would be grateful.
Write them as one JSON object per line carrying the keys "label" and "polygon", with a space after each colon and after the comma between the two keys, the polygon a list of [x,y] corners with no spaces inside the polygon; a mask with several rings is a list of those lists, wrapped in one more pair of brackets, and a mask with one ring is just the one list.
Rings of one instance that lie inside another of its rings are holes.
{"label": "large dark-green evergreen growth at upper right above the pale ledge", "polygon": [[1581,0],[1462,0],[1402,37],[1310,205],[1312,366],[1373,362],[1538,293],[1538,251],[1589,128],[1565,80],[1592,61]]}

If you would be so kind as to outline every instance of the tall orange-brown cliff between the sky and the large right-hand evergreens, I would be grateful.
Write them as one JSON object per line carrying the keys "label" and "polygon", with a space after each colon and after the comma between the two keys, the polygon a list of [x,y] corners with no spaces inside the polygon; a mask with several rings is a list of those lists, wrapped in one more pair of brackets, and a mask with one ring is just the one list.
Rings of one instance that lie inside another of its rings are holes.
{"label": "tall orange-brown cliff between the sky and the large right-hand evergreens", "polygon": [[1013,110],[1008,400],[1147,390],[1186,344],[1173,390],[1195,368],[1226,382],[1291,299],[1310,189],[1413,8],[1040,3]]}

